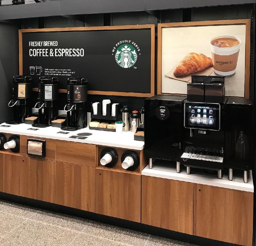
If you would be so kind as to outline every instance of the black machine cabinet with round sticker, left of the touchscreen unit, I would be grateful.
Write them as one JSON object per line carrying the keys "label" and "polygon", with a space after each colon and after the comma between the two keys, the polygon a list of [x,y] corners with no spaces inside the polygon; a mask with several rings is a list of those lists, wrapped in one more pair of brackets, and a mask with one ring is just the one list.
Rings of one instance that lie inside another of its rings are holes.
{"label": "black machine cabinet with round sticker, left of the touchscreen unit", "polygon": [[145,99],[145,154],[153,159],[176,161],[180,172],[184,96],[157,95]]}

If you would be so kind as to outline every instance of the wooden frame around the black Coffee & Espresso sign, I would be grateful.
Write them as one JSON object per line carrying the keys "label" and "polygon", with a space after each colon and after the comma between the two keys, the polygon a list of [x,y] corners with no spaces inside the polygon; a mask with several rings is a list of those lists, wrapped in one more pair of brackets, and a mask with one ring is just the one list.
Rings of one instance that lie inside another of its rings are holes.
{"label": "wooden frame around the black Coffee & Espresso sign", "polygon": [[[95,30],[127,30],[127,29],[151,29],[151,82],[150,93],[136,92],[117,92],[117,91],[88,91],[93,95],[109,95],[109,96],[130,96],[130,97],[151,97],[155,95],[155,25],[126,25],[126,26],[93,26],[93,27],[67,27],[67,28],[34,28],[19,30],[19,73],[23,73],[23,57],[22,57],[22,34],[28,32],[70,32],[70,31],[95,31]],[[38,91],[38,88],[33,88]],[[60,93],[67,93],[67,90],[60,89]]]}

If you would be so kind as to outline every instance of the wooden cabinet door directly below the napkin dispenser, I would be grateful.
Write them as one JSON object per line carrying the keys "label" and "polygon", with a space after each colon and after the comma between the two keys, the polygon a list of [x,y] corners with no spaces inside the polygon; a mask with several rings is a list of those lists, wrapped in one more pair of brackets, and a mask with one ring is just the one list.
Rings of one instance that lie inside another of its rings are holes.
{"label": "wooden cabinet door directly below the napkin dispenser", "polygon": [[55,162],[21,156],[20,196],[55,203]]}

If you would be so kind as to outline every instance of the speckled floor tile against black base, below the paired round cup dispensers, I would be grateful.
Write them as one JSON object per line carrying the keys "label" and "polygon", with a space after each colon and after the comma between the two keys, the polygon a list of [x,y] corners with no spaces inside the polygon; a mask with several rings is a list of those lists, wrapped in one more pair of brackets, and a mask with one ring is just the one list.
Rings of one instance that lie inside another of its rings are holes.
{"label": "speckled floor tile against black base, below the paired round cup dispensers", "polygon": [[124,244],[144,245],[149,234],[88,220],[84,233]]}

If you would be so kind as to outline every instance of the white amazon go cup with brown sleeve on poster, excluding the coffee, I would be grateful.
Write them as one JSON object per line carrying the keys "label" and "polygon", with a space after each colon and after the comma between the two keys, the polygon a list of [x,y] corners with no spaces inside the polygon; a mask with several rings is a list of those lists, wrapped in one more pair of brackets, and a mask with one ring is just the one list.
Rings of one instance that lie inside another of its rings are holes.
{"label": "white amazon go cup with brown sleeve on poster, excluding the coffee", "polygon": [[[214,39],[218,38],[232,38],[239,41],[239,44],[233,47],[216,47],[211,44]],[[212,54],[212,64],[214,67],[214,72],[217,75],[228,76],[235,73],[237,66],[239,50],[241,46],[241,39],[235,36],[224,35],[217,36],[210,40],[211,54]]]}

